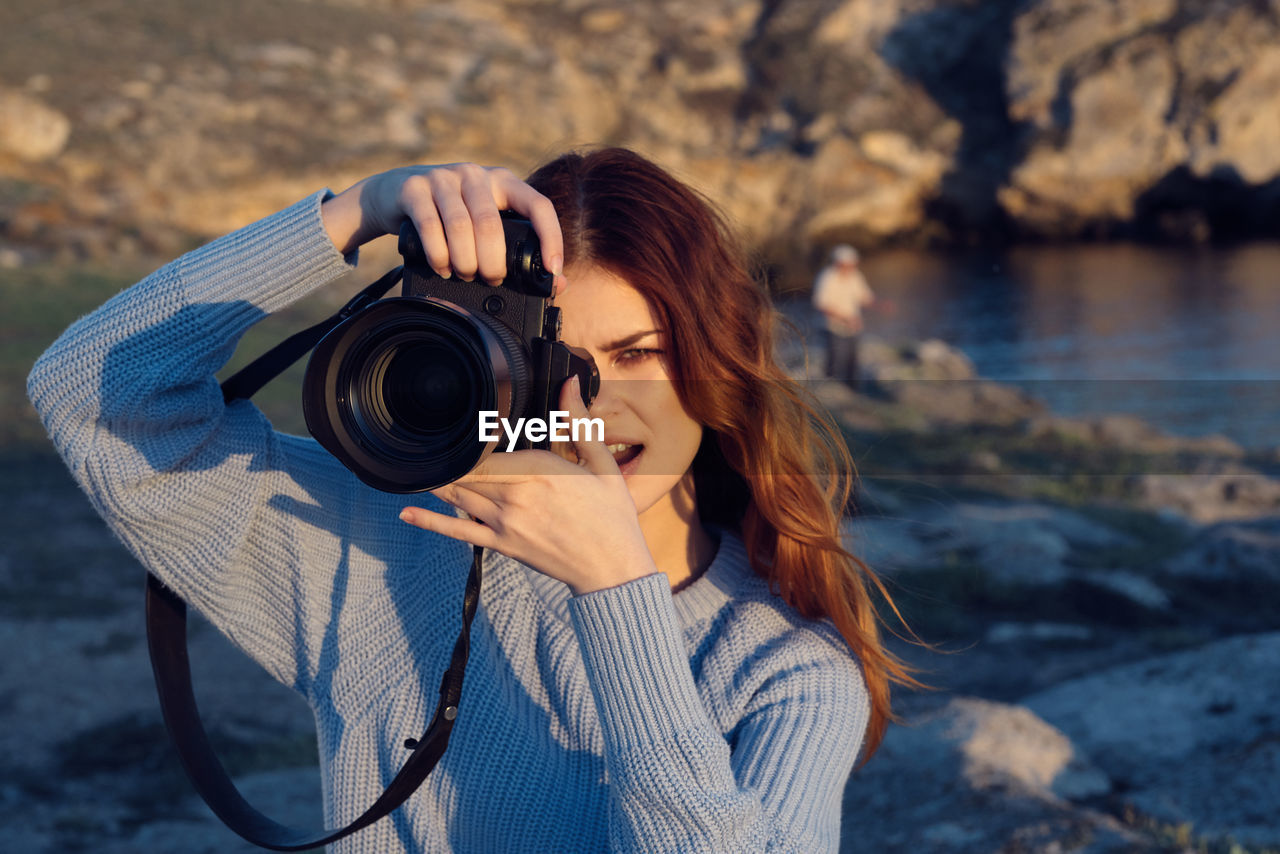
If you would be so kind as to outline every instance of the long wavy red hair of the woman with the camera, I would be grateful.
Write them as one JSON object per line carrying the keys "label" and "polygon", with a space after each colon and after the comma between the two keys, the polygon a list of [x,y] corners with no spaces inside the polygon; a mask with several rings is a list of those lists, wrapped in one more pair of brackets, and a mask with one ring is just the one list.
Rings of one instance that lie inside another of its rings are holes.
{"label": "long wavy red hair of the woman with the camera", "polygon": [[861,662],[865,762],[892,720],[890,684],[918,682],[881,640],[870,590],[892,607],[883,584],[841,542],[849,449],[776,362],[773,307],[745,254],[708,200],[626,149],[563,155],[529,183],[556,205],[566,265],[623,278],[667,332],[676,392],[703,425],[701,520],[739,531],[755,574],[804,617],[829,618]]}

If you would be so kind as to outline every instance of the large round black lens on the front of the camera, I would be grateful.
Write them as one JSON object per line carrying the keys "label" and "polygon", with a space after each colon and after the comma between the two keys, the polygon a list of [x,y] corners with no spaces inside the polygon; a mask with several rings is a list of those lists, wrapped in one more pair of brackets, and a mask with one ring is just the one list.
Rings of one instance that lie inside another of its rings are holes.
{"label": "large round black lens on the front of the camera", "polygon": [[384,492],[434,489],[488,452],[477,414],[521,412],[529,357],[500,321],[443,300],[383,300],[316,346],[302,408],[321,446]]}

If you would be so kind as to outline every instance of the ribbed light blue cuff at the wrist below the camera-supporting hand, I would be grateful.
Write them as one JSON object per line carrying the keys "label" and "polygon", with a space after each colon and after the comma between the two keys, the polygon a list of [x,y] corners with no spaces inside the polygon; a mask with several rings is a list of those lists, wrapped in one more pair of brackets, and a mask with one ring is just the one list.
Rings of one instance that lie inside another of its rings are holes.
{"label": "ribbed light blue cuff at the wrist below the camera-supporting hand", "polygon": [[709,726],[658,572],[570,599],[605,744],[668,741]]}

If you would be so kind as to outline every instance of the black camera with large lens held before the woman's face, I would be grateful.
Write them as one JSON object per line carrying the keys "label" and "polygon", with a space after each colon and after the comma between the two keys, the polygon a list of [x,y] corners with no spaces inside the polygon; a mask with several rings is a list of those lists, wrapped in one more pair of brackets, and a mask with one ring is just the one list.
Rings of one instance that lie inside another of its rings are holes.
{"label": "black camera with large lens held before the woman's face", "polygon": [[480,439],[481,411],[547,419],[575,374],[584,403],[599,392],[591,356],[559,339],[554,277],[532,225],[504,213],[503,232],[507,277],[493,287],[438,275],[406,220],[402,296],[356,311],[312,351],[302,382],[307,429],[370,487],[442,487],[497,449]]}

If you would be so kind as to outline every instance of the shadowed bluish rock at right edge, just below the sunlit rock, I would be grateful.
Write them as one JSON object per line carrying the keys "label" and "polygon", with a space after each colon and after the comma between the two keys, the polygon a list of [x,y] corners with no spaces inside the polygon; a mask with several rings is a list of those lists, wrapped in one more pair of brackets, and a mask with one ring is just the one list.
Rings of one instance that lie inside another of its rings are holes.
{"label": "shadowed bluish rock at right edge, just below the sunlit rock", "polygon": [[1280,585],[1280,519],[1206,528],[1164,570],[1211,583]]}

